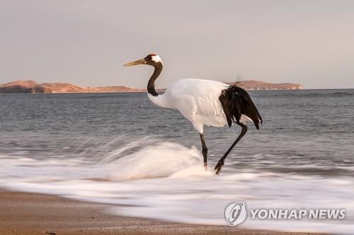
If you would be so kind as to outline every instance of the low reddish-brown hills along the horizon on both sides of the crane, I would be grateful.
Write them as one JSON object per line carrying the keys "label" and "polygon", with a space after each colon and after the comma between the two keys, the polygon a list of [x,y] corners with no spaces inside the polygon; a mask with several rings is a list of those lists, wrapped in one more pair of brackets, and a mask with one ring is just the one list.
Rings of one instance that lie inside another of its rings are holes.
{"label": "low reddish-brown hills along the horizon on both sides of the crane", "polygon": [[[295,83],[267,83],[259,80],[244,80],[236,83],[246,90],[299,90],[301,85]],[[163,91],[161,89],[159,91]],[[41,83],[34,80],[16,80],[0,85],[0,93],[90,93],[90,92],[146,92],[146,89],[127,88],[125,86],[108,86],[98,88],[81,88],[69,83]]]}

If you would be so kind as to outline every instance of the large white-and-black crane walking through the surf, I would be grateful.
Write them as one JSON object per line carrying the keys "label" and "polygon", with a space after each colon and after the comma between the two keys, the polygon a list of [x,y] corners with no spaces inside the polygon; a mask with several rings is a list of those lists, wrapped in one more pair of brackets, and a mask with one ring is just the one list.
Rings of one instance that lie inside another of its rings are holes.
{"label": "large white-and-black crane walking through the surf", "polygon": [[163,94],[159,94],[155,90],[155,82],[164,67],[160,56],[148,54],[143,59],[124,64],[124,66],[136,65],[154,67],[154,73],[147,83],[149,100],[159,107],[177,109],[198,131],[206,170],[208,149],[205,143],[204,126],[231,127],[232,123],[241,126],[241,133],[215,166],[215,174],[219,174],[227,155],[248,130],[244,120],[253,121],[256,129],[259,129],[259,123],[262,124],[261,115],[249,93],[237,85],[228,85],[216,80],[183,78],[169,85]]}

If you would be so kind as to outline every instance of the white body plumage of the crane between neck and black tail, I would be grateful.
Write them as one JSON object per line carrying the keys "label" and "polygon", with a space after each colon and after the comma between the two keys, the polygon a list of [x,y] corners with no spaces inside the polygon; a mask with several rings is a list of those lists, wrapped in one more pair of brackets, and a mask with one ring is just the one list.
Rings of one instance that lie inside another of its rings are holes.
{"label": "white body plumage of the crane between neck and black tail", "polygon": [[163,95],[148,93],[148,96],[160,107],[178,109],[199,133],[203,133],[203,125],[227,125],[219,96],[228,87],[215,80],[185,78],[172,83]]}

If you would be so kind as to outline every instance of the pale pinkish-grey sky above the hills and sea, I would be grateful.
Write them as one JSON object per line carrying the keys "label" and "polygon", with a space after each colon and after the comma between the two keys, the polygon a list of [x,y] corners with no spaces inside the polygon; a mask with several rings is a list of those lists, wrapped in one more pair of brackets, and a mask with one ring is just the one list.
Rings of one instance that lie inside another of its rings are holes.
{"label": "pale pinkish-grey sky above the hills and sea", "polygon": [[0,84],[145,88],[181,78],[354,88],[354,1],[0,0]]}

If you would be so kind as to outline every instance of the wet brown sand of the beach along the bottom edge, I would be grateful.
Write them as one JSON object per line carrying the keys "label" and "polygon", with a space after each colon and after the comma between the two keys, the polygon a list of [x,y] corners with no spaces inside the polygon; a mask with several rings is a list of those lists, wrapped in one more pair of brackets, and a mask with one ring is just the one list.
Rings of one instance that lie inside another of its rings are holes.
{"label": "wet brown sand of the beach along the bottom edge", "polygon": [[308,234],[122,217],[105,214],[109,207],[52,195],[0,191],[0,234]]}

